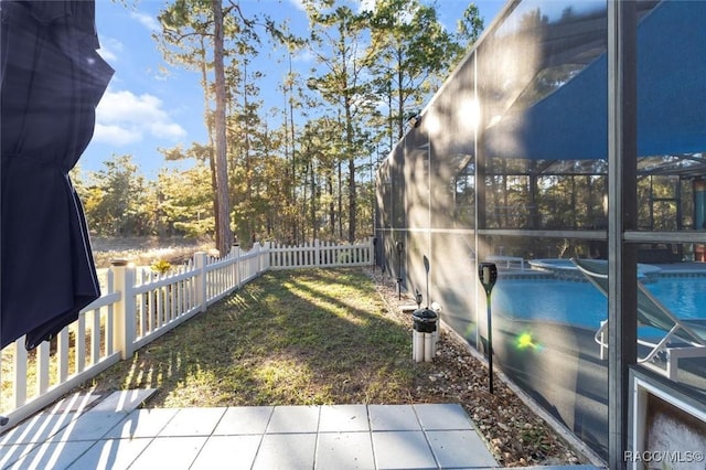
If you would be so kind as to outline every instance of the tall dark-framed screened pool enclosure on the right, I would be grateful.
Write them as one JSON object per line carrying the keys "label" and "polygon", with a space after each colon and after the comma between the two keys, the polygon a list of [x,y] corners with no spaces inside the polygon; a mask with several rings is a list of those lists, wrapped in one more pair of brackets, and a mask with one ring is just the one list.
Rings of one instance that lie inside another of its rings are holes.
{"label": "tall dark-framed screened pool enclosure on the right", "polygon": [[[663,332],[638,288],[706,346],[704,24],[700,1],[511,1],[377,173],[381,267],[426,295],[427,257],[429,301],[486,355],[495,263],[495,364],[610,468],[659,432],[635,377],[706,447],[706,348],[641,362]],[[605,260],[606,292],[570,258]]]}

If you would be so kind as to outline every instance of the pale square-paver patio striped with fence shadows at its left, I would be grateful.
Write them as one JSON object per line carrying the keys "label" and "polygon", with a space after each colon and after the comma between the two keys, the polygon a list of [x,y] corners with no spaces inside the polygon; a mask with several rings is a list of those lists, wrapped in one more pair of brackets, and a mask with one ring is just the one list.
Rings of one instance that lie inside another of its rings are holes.
{"label": "pale square-paver patio striped with fence shadows at its left", "polygon": [[55,407],[0,436],[2,469],[498,468],[458,404]]}

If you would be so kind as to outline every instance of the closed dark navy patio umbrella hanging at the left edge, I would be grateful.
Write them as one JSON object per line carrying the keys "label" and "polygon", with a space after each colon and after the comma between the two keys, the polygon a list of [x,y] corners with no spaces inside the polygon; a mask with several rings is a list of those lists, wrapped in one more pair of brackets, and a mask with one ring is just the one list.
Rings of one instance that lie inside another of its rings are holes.
{"label": "closed dark navy patio umbrella hanging at the left edge", "polygon": [[58,333],[100,296],[68,178],[113,68],[93,1],[0,1],[0,348]]}

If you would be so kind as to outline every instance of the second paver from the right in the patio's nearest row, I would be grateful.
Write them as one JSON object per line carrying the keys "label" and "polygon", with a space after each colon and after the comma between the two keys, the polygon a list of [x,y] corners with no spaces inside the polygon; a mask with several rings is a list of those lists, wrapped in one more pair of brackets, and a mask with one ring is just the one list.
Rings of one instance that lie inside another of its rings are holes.
{"label": "second paver from the right in the patio's nearest row", "polygon": [[422,431],[373,432],[373,452],[377,469],[437,468]]}

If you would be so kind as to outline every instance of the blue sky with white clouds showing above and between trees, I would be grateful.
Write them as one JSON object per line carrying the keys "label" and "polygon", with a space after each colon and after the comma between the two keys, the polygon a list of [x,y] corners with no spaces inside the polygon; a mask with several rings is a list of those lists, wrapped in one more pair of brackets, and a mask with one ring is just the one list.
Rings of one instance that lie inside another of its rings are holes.
{"label": "blue sky with white clouds showing above and between trees", "polygon": [[[363,0],[366,1],[366,0]],[[438,0],[439,19],[454,30],[470,0]],[[191,142],[205,143],[203,93],[199,76],[168,65],[151,33],[159,24],[157,15],[165,4],[158,0],[96,0],[96,28],[103,57],[116,73],[98,105],[94,138],[82,156],[82,171],[97,171],[111,154],[131,154],[140,172],[154,179],[160,168],[184,167],[193,162],[165,162],[159,148],[183,148]],[[275,19],[288,19],[295,31],[303,31],[307,19],[298,0],[240,0],[246,14],[266,12]],[[502,9],[504,0],[475,1],[488,26]],[[264,49],[267,43],[264,42]],[[281,106],[278,83],[286,73],[281,53],[264,50],[255,67],[266,74],[260,84],[265,109]],[[309,70],[303,54],[295,66]]]}

